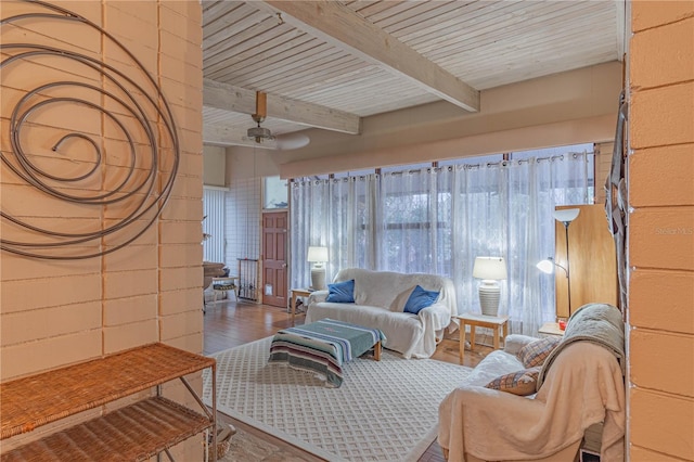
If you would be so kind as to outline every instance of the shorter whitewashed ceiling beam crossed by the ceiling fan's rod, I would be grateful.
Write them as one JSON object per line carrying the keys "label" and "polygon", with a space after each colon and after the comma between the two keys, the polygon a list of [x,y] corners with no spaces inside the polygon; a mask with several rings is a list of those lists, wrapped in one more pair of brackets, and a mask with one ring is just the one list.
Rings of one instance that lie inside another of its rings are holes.
{"label": "shorter whitewashed ceiling beam crossed by the ceiling fan's rod", "polygon": [[[204,79],[203,105],[252,115],[256,112],[256,92]],[[267,111],[268,117],[308,127],[350,134],[359,134],[361,130],[361,117],[355,114],[273,94],[267,95]]]}

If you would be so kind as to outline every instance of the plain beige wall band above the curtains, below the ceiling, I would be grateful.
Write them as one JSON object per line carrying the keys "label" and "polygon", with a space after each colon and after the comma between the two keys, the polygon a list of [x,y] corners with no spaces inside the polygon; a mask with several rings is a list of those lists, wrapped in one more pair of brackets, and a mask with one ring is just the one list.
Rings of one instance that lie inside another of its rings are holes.
{"label": "plain beige wall band above the curtains, below the ceiling", "polygon": [[[365,117],[362,133],[306,130],[308,146],[266,151],[282,178],[529,150],[614,138],[621,63],[481,92],[471,114],[447,102]],[[247,149],[230,149],[248,153]]]}

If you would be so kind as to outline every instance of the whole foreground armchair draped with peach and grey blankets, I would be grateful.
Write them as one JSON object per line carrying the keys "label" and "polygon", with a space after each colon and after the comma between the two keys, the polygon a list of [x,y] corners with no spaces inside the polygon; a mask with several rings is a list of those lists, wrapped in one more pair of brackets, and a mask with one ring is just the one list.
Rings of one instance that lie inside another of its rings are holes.
{"label": "whole foreground armchair draped with peach and grey blankets", "polygon": [[[527,396],[514,394],[515,384],[494,387],[513,382],[501,380],[461,384],[444,399],[438,441],[450,462],[573,461],[586,431],[595,424],[602,424],[601,460],[624,460],[625,348],[619,310],[604,304],[581,307],[542,361]],[[471,376],[479,374],[474,371]]]}

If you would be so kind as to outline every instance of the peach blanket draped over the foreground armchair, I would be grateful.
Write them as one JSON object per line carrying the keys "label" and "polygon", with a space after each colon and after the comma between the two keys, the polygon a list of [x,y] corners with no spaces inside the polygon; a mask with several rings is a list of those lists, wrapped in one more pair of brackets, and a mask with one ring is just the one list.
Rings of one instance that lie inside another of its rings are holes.
{"label": "peach blanket draped over the foreground armchair", "polygon": [[[591,342],[563,349],[534,399],[463,385],[439,406],[438,441],[448,462],[549,458],[604,422],[601,460],[624,461],[625,385],[615,357]],[[557,459],[561,460],[561,459]]]}

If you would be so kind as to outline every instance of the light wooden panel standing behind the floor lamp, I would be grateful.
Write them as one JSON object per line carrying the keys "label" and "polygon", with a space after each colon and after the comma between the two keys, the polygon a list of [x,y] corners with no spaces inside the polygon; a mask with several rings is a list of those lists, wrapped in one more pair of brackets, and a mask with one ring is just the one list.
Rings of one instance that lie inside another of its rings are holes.
{"label": "light wooden panel standing behind the floor lamp", "polygon": [[557,269],[556,316],[568,318],[578,308],[590,303],[605,303],[618,307],[617,253],[615,241],[607,228],[605,207],[595,205],[561,206],[556,209],[578,208],[578,217],[568,227],[568,262],[566,258],[566,229],[555,223],[556,264],[569,268],[571,278],[571,306],[568,306],[566,273]]}

